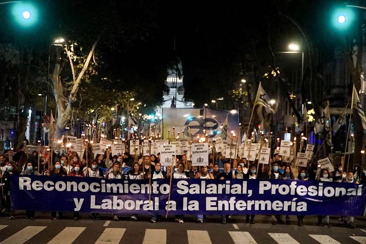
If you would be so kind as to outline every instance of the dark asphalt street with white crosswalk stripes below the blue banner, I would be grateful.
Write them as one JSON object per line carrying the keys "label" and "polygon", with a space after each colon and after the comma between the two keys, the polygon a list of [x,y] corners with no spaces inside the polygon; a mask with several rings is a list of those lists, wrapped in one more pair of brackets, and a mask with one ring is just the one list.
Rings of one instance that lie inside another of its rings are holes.
{"label": "dark asphalt street with white crosswalk stripes below the blue banner", "polygon": [[[233,215],[228,224],[222,225],[219,215],[207,216],[206,223],[199,224],[193,215],[184,218],[184,224],[174,222],[173,216],[150,223],[148,216],[120,216],[111,221],[107,215],[101,220],[91,220],[89,214],[81,214],[74,221],[72,213],[65,219],[51,221],[49,213],[36,212],[36,219],[25,219],[19,211],[14,220],[0,218],[0,244],[53,244],[53,243],[217,243],[217,244],[303,244],[303,243],[361,243],[366,244],[366,222],[355,219],[356,229],[341,227],[339,217],[330,217],[331,228],[317,226],[315,216],[306,216],[304,225],[298,226],[295,216],[285,225],[270,224],[270,216],[256,215],[255,224],[246,224],[242,215]],[[284,217],[284,216],[283,216]]]}

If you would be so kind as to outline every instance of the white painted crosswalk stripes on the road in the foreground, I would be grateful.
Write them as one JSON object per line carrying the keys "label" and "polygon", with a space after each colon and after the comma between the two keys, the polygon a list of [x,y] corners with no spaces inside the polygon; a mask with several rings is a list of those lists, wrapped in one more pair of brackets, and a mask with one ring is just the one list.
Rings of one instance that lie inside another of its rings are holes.
{"label": "white painted crosswalk stripes on the road in the foreground", "polygon": [[[0,230],[5,228],[10,228],[8,225],[0,225]],[[30,239],[34,238],[37,234],[42,232],[43,230],[46,231],[47,226],[27,226],[23,229],[20,229],[18,232],[12,234],[7,239],[0,242],[0,244],[23,244]],[[52,239],[50,237],[50,241],[45,241],[46,244],[72,244],[83,232],[85,234],[85,230],[87,227],[65,227],[61,229],[59,233],[57,233]],[[5,229],[6,231],[7,229]],[[108,228],[106,227],[103,232],[100,234],[97,240],[91,241],[88,243],[95,243],[95,244],[118,244],[124,243],[123,237],[126,232],[126,228]],[[207,230],[187,230],[186,231],[186,241],[180,239],[179,242],[188,243],[188,244],[212,244],[212,243],[223,243],[223,240],[213,240],[210,238],[209,232]],[[307,241],[299,240],[299,237],[292,237],[288,233],[265,233],[268,234],[268,237],[261,238],[259,240],[255,240],[251,233],[246,231],[228,231],[229,236],[231,237],[232,243],[234,244],[261,244],[261,243],[275,243],[277,244],[303,244],[309,243]],[[309,234],[308,235],[311,239],[314,240],[314,244],[341,244],[336,239],[325,235],[325,234]],[[174,236],[167,237],[167,230],[166,229],[145,229],[145,235],[143,236],[142,244],[166,244],[167,239],[169,239],[169,243],[172,243]],[[348,237],[346,237],[348,238]],[[348,241],[344,241],[343,243],[360,243],[366,244],[366,236],[350,236]],[[33,240],[34,240],[33,239]],[[95,240],[95,239],[94,239]],[[265,242],[263,241],[265,240]],[[271,241],[272,240],[272,241]],[[174,241],[176,242],[176,241]],[[43,244],[41,242],[37,242]],[[227,240],[225,240],[225,243]]]}

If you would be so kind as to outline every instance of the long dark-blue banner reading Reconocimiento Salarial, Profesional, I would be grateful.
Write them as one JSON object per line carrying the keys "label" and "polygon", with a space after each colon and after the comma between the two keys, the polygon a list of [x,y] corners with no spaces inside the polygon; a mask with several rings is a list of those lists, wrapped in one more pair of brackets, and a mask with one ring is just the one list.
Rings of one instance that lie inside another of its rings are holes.
{"label": "long dark-blue banner reading Reconocimiento Salarial, Profesional", "polygon": [[12,210],[115,214],[362,215],[366,187],[313,180],[154,181],[12,174]]}

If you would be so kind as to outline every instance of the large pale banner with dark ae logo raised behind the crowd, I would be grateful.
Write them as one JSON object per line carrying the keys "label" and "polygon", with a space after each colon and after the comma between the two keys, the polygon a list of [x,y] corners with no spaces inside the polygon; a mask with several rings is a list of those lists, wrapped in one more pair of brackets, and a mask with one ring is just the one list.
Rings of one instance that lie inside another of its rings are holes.
{"label": "large pale banner with dark ae logo raised behind the crowd", "polygon": [[[188,127],[191,128],[193,137],[208,134],[208,140],[221,138],[221,127],[226,117],[228,118],[227,131],[237,131],[239,126],[239,113],[234,110],[210,110],[209,108],[163,108],[163,136],[168,139],[168,130],[184,131],[184,136],[189,138]],[[204,133],[203,130],[206,129]],[[228,133],[228,139],[231,136]],[[181,135],[183,138],[183,135]],[[240,141],[240,138],[239,138]]]}

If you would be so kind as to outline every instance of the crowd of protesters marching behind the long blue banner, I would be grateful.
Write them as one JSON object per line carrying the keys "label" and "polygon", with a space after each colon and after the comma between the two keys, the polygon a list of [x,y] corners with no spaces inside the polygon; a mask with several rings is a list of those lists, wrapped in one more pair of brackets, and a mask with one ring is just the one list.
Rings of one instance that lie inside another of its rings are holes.
{"label": "crowd of protesters marching behind the long blue banner", "polygon": [[[223,155],[209,154],[209,165],[192,166],[187,161],[186,155],[177,156],[176,164],[172,168],[167,166],[165,170],[160,164],[160,154],[139,157],[137,162],[126,149],[121,155],[104,155],[97,154],[95,158],[88,157],[86,154],[80,159],[76,152],[71,151],[68,155],[53,154],[52,162],[49,154],[38,154],[33,151],[27,155],[24,146],[20,146],[17,153],[12,155],[12,161],[9,161],[8,150],[0,155],[0,183],[1,198],[0,208],[1,214],[8,215],[10,219],[15,218],[14,210],[11,209],[10,203],[10,174],[27,174],[27,175],[58,175],[58,176],[76,176],[76,177],[97,177],[107,179],[129,179],[142,180],[151,179],[159,180],[172,177],[173,179],[207,179],[207,180],[224,180],[224,179],[281,179],[281,180],[320,180],[347,182],[355,184],[364,184],[366,181],[365,173],[361,166],[355,164],[352,170],[347,172],[342,165],[336,165],[333,172],[327,169],[318,168],[317,164],[310,164],[306,168],[296,167],[295,161],[290,163],[282,161],[279,154],[274,154],[269,164],[263,165],[250,164],[246,158],[228,159]],[[92,155],[91,151],[89,155]],[[40,168],[38,169],[38,159]],[[253,162],[252,162],[253,163]],[[104,171],[104,170],[105,171]],[[105,172],[105,173],[104,173]],[[63,212],[51,212],[51,220],[63,218]],[[226,224],[229,215],[221,215],[222,224]],[[254,224],[254,214],[246,215],[246,223]],[[303,225],[304,215],[298,215],[298,225]],[[34,219],[34,211],[26,210],[26,218]],[[100,219],[99,213],[92,213],[91,219]],[[131,220],[137,220],[138,213],[132,214]],[[184,215],[176,215],[175,221],[183,223]],[[282,215],[271,215],[272,224],[284,224]],[[286,219],[290,218],[288,215]],[[79,219],[79,213],[74,212],[74,219]],[[152,214],[151,222],[155,223],[161,219],[161,215]],[[197,215],[197,222],[202,223],[206,219],[205,215]],[[118,217],[113,214],[113,220],[117,221]],[[329,215],[318,215],[318,225],[325,222],[325,227],[329,225]],[[355,228],[354,217],[341,216],[340,221],[347,228]]]}

